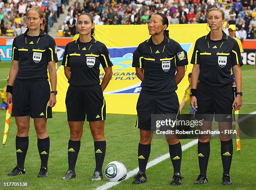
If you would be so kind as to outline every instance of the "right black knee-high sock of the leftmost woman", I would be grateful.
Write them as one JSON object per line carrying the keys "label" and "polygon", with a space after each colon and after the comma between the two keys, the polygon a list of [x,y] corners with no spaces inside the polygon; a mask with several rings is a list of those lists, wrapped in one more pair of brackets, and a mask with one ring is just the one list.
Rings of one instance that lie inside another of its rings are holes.
{"label": "right black knee-high sock of the leftmost woman", "polygon": [[50,138],[37,139],[37,148],[41,159],[41,167],[46,167],[49,158]]}

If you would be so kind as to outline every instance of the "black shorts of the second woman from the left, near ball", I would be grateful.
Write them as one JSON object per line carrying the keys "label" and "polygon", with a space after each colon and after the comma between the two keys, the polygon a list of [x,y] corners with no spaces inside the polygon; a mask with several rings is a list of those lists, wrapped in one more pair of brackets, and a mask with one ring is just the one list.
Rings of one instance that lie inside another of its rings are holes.
{"label": "black shorts of the second woman from the left, near ball", "polygon": [[106,119],[106,103],[101,86],[70,85],[66,96],[67,120],[69,122],[102,121]]}

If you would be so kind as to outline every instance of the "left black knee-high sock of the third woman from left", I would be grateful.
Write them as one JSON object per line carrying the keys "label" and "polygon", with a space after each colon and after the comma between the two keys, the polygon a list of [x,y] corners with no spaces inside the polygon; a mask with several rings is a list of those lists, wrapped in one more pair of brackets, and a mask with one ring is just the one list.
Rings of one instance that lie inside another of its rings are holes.
{"label": "left black knee-high sock of the third woman from left", "polygon": [[148,163],[148,158],[150,155],[151,144],[141,144],[138,145],[138,162],[139,162],[139,170],[141,172],[146,172],[146,166]]}

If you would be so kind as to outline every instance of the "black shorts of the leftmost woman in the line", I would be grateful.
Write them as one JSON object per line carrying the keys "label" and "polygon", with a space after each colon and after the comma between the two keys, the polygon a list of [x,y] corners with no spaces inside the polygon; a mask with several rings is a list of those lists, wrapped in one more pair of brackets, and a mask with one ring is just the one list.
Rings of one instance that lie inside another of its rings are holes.
{"label": "black shorts of the leftmost woman in the line", "polygon": [[52,118],[48,102],[51,96],[47,79],[27,81],[15,79],[13,84],[12,116],[31,118]]}

